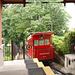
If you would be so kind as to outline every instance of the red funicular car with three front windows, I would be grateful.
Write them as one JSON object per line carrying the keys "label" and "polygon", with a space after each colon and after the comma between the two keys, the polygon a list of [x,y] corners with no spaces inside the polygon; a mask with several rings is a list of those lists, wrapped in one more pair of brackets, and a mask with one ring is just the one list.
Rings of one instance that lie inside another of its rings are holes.
{"label": "red funicular car with three front windows", "polygon": [[55,48],[51,45],[51,35],[55,32],[38,32],[28,37],[28,55],[38,60],[54,59]]}

